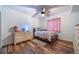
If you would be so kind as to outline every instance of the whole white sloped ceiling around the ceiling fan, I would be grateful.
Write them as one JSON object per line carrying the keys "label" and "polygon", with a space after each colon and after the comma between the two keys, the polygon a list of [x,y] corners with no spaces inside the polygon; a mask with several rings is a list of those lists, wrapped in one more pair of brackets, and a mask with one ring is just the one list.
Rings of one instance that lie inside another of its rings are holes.
{"label": "whole white sloped ceiling around the ceiling fan", "polygon": [[[7,5],[11,9],[27,13],[29,15],[38,15],[42,8],[46,8],[46,11],[51,11],[52,14],[58,14],[65,11],[71,11],[72,5]],[[73,7],[72,11],[79,11],[78,7]],[[76,8],[76,9],[75,9]]]}

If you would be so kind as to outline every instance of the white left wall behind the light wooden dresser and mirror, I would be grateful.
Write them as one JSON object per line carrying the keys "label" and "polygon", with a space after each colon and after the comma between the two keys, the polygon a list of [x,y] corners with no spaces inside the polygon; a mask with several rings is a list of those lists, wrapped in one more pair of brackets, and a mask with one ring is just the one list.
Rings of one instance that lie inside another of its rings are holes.
{"label": "white left wall behind the light wooden dresser and mirror", "polygon": [[[38,21],[34,21],[35,18],[33,18],[31,15],[28,15],[27,13],[20,12],[18,10],[10,9],[9,7],[3,7],[2,10],[2,46],[6,44],[10,44],[13,42],[13,36],[11,35],[11,32],[9,32],[10,28],[19,25],[22,23],[28,23],[31,24],[32,28],[30,29],[30,32],[32,33],[32,29],[34,25],[39,26]],[[34,23],[35,22],[35,23]]]}

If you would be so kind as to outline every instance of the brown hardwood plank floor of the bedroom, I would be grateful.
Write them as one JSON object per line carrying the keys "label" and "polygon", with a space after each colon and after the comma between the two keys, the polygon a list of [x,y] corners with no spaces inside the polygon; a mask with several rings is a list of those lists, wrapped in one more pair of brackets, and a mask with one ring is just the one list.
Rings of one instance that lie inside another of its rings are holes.
{"label": "brown hardwood plank floor of the bedroom", "polygon": [[[35,39],[37,40],[37,39]],[[31,41],[26,41],[14,45],[8,45],[1,49],[2,54],[73,54],[73,44],[70,42],[57,40],[54,44],[41,46]]]}

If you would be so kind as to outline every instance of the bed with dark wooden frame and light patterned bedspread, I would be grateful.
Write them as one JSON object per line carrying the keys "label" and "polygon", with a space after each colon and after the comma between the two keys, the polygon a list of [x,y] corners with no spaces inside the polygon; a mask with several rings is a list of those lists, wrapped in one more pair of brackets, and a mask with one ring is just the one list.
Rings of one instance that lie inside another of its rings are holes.
{"label": "bed with dark wooden frame and light patterned bedspread", "polygon": [[58,39],[57,33],[53,31],[47,31],[47,30],[36,30],[34,29],[34,37],[39,38],[42,41],[51,43],[54,42],[56,39]]}

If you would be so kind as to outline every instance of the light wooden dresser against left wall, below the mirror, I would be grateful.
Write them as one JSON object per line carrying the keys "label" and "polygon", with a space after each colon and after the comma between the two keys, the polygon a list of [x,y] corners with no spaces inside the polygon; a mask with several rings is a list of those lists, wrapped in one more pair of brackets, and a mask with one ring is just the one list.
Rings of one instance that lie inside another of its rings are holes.
{"label": "light wooden dresser against left wall, below the mirror", "polygon": [[33,35],[30,32],[14,32],[14,44],[31,40],[33,38]]}

